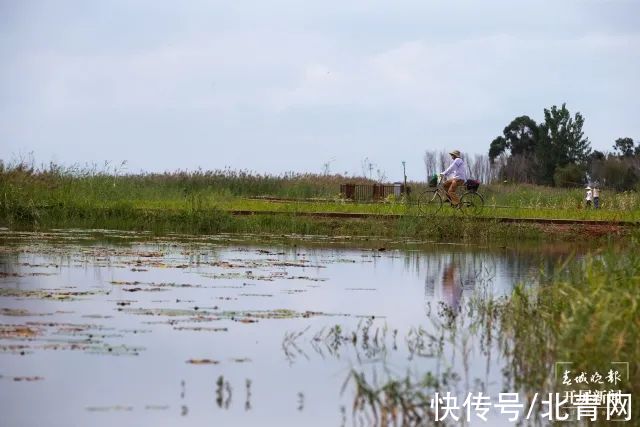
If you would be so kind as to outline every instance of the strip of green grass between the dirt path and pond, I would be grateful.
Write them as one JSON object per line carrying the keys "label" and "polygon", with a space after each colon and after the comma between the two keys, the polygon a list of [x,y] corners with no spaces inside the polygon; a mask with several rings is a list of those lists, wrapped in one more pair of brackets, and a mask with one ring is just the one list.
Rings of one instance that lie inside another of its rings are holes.
{"label": "strip of green grass between the dirt path and pond", "polygon": [[312,218],[296,215],[231,215],[224,210],[140,209],[128,204],[104,208],[55,207],[14,212],[6,224],[13,229],[85,228],[151,231],[155,234],[269,233],[382,237],[408,240],[474,241],[541,239],[532,225],[479,226],[469,218],[424,219],[402,216],[393,219]]}

